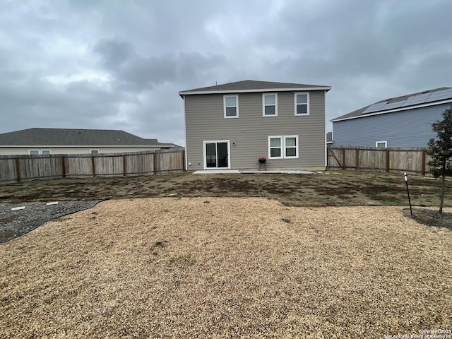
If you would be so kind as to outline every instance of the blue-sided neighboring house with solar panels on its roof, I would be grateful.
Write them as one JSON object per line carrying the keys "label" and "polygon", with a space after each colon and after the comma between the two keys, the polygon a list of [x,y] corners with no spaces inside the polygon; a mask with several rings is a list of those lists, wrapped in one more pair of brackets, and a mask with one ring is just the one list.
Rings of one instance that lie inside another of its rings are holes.
{"label": "blue-sided neighboring house with solar panels on its roof", "polygon": [[448,87],[375,102],[331,120],[333,145],[426,147],[436,136],[432,124],[451,102]]}

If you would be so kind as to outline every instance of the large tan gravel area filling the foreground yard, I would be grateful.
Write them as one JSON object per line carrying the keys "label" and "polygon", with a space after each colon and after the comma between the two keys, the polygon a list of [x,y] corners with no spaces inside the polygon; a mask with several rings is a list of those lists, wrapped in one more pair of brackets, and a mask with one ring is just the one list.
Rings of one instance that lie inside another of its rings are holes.
{"label": "large tan gravel area filling the foreground yard", "polygon": [[1,338],[452,330],[452,232],[399,207],[105,201],[0,244]]}

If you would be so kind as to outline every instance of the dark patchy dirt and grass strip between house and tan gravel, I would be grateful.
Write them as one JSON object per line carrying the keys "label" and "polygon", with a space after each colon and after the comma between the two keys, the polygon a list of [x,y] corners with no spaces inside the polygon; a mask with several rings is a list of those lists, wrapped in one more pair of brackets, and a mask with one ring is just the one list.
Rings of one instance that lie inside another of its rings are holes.
{"label": "dark patchy dirt and grass strip between house and tan gravel", "polygon": [[[414,206],[439,205],[439,181],[409,176]],[[287,206],[408,206],[403,174],[191,174],[55,179],[1,184],[0,203],[178,196],[263,196]],[[446,206],[452,206],[446,196]],[[450,195],[452,197],[452,194]]]}

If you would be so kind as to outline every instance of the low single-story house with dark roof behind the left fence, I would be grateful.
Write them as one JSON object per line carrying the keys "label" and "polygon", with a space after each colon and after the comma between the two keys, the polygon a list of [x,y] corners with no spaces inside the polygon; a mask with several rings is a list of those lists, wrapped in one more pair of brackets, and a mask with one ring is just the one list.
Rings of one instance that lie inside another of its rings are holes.
{"label": "low single-story house with dark roof behind the left fence", "polygon": [[35,128],[0,134],[0,155],[124,153],[178,147],[116,130]]}

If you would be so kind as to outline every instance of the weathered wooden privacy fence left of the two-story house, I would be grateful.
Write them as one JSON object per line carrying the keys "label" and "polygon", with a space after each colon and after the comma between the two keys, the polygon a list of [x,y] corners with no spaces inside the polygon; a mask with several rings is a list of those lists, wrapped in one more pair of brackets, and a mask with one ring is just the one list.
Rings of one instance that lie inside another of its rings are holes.
{"label": "weathered wooden privacy fence left of the two-story house", "polygon": [[76,155],[2,155],[0,182],[145,175],[185,170],[185,150]]}

